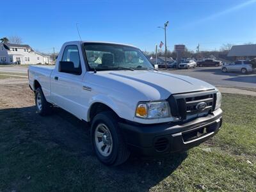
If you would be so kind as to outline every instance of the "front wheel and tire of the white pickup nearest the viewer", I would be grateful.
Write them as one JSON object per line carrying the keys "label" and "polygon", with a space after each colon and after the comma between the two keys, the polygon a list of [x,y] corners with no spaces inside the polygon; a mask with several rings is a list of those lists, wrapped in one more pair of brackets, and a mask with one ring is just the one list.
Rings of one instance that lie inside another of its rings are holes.
{"label": "front wheel and tire of the white pickup nearest the viewer", "polygon": [[130,156],[118,126],[118,116],[112,111],[98,113],[93,118],[91,139],[97,158],[108,166],[122,164]]}

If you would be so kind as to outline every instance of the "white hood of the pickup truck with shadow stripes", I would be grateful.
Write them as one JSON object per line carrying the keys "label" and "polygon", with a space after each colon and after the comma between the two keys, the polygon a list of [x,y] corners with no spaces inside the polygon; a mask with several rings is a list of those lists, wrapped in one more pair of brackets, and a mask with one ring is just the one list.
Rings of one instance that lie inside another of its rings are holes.
{"label": "white hood of the pickup truck with shadow stripes", "polygon": [[[167,99],[171,94],[215,89],[209,83],[188,76],[151,70],[105,71],[97,76],[107,78],[105,82],[118,81],[120,86],[129,86],[143,93],[148,100]],[[116,88],[115,88],[116,89]],[[132,90],[127,90],[132,94]]]}

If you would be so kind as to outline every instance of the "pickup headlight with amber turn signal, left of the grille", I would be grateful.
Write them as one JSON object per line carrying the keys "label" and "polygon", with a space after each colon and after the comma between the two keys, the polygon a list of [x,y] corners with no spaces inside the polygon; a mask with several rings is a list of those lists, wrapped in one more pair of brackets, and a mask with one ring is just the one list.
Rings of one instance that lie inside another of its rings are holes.
{"label": "pickup headlight with amber turn signal, left of the grille", "polygon": [[141,118],[165,118],[170,116],[169,104],[166,101],[139,103],[136,116]]}

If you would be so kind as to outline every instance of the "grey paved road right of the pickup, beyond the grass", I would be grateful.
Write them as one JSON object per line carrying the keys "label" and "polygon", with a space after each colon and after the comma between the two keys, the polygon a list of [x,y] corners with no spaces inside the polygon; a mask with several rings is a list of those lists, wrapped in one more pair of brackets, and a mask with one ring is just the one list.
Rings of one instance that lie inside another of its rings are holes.
{"label": "grey paved road right of the pickup, beyond the grass", "polygon": [[172,74],[195,77],[214,86],[256,88],[256,74],[223,73],[220,67],[197,67],[180,70],[163,70]]}

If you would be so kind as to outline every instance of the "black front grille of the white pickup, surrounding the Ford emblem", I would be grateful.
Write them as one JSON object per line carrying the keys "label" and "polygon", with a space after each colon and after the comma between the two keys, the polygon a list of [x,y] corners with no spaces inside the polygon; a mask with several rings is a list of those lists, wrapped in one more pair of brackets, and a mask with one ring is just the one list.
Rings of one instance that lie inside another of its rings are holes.
{"label": "black front grille of the white pickup, surrounding the Ford emblem", "polygon": [[[205,92],[193,92],[174,94],[168,98],[172,115],[186,120],[188,116],[196,115],[199,113],[211,113],[216,104],[216,91],[208,90]],[[200,102],[205,102],[204,109],[196,108]]]}

